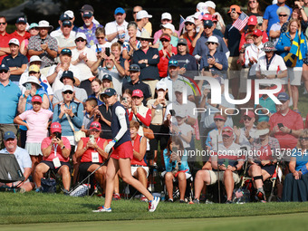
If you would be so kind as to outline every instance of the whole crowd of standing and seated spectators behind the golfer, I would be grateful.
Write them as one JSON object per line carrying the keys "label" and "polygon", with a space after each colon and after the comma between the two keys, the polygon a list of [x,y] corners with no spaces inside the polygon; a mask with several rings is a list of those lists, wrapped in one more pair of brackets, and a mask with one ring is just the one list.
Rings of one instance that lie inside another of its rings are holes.
{"label": "whole crowd of standing and seated spectators behind the golfer", "polygon": [[[62,176],[65,194],[93,171],[105,191],[106,167],[99,167],[115,139],[108,103],[114,92],[130,120],[131,175],[147,187],[153,168],[164,169],[169,202],[174,181],[179,202],[185,201],[193,176],[193,203],[219,180],[232,203],[240,173],[253,178],[255,199],[265,202],[263,182],[280,169],[276,165],[284,167],[280,184],[286,176],[277,199],[308,200],[308,121],[299,110],[302,83],[308,91],[307,14],[308,0],[295,1],[294,8],[277,0],[264,14],[258,0],[247,0],[247,12],[230,5],[223,18],[207,1],[178,31],[172,15],[162,13],[155,32],[151,21],[158,19],[139,5],[131,22],[118,7],[105,25],[94,19],[91,5],[83,5],[81,14],[61,14],[55,30],[45,20],[29,24],[19,17],[13,34],[0,15],[0,142],[6,153],[27,152],[32,161],[23,157],[20,191],[42,191],[49,169]],[[74,24],[75,16],[82,26]],[[245,21],[242,30],[239,21]],[[236,104],[248,92],[245,105]],[[197,149],[212,153],[198,171],[196,157],[189,156]],[[254,155],[244,155],[249,151]],[[114,174],[113,197],[119,199],[122,176]]]}

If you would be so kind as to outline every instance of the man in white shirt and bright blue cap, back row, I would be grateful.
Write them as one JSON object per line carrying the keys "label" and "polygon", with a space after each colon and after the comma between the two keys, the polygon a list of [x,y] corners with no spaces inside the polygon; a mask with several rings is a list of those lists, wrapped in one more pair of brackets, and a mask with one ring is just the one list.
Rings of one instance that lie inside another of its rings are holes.
{"label": "man in white shirt and bright blue cap, back row", "polygon": [[128,22],[125,21],[126,13],[121,7],[118,7],[114,11],[115,21],[106,24],[105,31],[108,38],[108,42],[111,43],[124,43],[125,34],[127,33]]}

